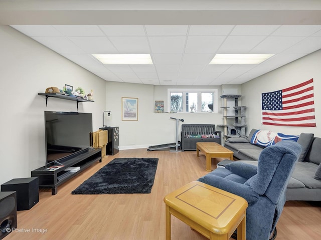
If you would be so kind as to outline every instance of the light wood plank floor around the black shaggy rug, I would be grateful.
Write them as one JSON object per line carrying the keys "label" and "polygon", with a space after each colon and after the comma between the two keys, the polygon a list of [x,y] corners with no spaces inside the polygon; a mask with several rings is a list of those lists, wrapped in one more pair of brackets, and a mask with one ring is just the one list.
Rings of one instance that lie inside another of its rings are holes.
{"label": "light wood plank floor around the black shaggy rug", "polygon": [[[71,191],[113,158],[157,157],[154,185],[149,194],[73,195]],[[212,169],[218,159],[212,159]],[[58,187],[58,194],[41,189],[39,202],[18,211],[18,229],[11,239],[165,239],[165,203],[171,191],[208,173],[205,156],[196,151],[121,150],[107,156]],[[277,224],[277,240],[320,239],[321,204],[288,201]],[[34,228],[34,229],[33,229]],[[46,229],[45,233],[32,232]],[[204,240],[204,236],[172,216],[172,239]],[[231,238],[232,239],[232,238]]]}

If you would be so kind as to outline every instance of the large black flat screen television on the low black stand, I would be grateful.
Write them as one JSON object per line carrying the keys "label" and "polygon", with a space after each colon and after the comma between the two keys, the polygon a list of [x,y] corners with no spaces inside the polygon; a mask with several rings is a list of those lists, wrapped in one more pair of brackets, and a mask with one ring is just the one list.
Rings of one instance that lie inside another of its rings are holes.
{"label": "large black flat screen television on the low black stand", "polygon": [[46,164],[90,147],[92,113],[45,111]]}

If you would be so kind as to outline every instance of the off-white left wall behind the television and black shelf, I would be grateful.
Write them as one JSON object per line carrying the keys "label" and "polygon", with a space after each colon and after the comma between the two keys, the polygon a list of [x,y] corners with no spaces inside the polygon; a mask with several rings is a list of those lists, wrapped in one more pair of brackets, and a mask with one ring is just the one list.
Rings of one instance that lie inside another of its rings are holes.
{"label": "off-white left wall behind the television and black shelf", "polygon": [[[48,99],[38,92],[67,83],[94,91],[95,102],[79,103],[93,113],[93,128],[102,125],[105,80],[16,31],[0,25],[0,184],[30,177],[45,165],[45,110],[77,111],[76,102]],[[81,130],[81,129],[80,129]]]}

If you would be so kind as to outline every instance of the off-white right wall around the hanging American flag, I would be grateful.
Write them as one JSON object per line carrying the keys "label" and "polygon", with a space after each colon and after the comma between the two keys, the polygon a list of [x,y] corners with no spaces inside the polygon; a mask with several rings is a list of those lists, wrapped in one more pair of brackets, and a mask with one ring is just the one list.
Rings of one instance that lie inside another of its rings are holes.
{"label": "off-white right wall around the hanging American flag", "polygon": [[[267,129],[285,134],[312,132],[321,136],[321,50],[315,51],[296,61],[242,84],[242,103],[246,105],[247,133],[251,128]],[[316,127],[261,125],[261,93],[290,87],[313,78]]]}

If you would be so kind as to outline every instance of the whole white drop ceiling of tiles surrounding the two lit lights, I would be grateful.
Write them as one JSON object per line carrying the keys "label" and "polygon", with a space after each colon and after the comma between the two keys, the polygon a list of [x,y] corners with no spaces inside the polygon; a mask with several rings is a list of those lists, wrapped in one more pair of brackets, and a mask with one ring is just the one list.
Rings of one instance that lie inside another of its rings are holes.
{"label": "whole white drop ceiling of tiles surrounding the two lit lights", "polygon": [[[239,84],[321,48],[321,25],[13,27],[103,79],[145,84]],[[92,53],[149,53],[153,64],[103,65]],[[209,65],[216,53],[275,55],[257,66]]]}

